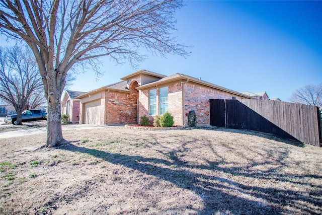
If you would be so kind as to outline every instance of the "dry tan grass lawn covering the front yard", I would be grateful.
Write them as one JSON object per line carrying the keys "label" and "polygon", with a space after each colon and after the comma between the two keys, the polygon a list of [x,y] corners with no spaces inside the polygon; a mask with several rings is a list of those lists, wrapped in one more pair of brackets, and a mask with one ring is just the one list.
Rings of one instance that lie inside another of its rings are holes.
{"label": "dry tan grass lawn covering the front yard", "polygon": [[223,128],[64,137],[0,139],[0,214],[322,213],[318,147]]}

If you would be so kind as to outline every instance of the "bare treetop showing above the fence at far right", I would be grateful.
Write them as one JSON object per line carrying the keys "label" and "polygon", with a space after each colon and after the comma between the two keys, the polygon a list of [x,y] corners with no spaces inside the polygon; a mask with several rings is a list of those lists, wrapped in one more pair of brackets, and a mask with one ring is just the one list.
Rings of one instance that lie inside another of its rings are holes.
{"label": "bare treetop showing above the fence at far right", "polygon": [[307,105],[322,106],[322,83],[319,85],[306,85],[297,89],[290,98],[291,102]]}

